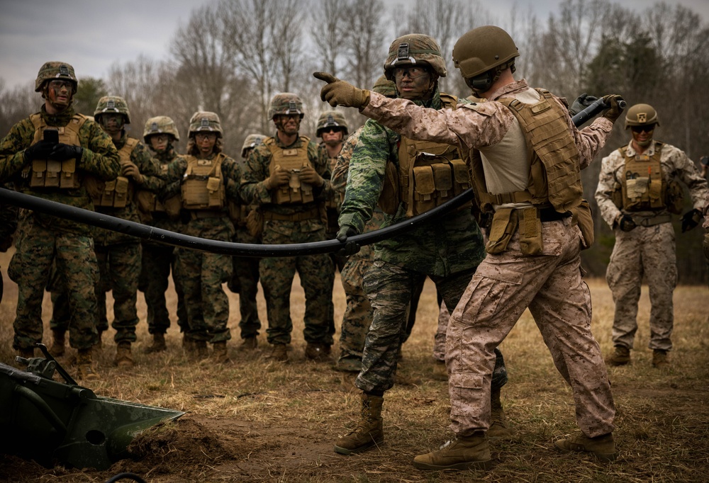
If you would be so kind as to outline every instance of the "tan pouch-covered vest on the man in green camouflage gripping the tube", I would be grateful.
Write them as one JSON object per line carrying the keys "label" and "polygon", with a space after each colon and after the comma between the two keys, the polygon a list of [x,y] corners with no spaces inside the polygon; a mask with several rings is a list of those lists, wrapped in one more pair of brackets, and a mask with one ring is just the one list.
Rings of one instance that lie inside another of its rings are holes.
{"label": "tan pouch-covered vest on the man in green camouflage gripping the tube", "polygon": [[[444,108],[456,108],[457,97],[441,93],[440,98]],[[406,216],[412,217],[442,205],[470,186],[469,171],[457,147],[401,136],[398,174],[389,162],[379,206],[394,215],[399,203],[404,203]]]}

